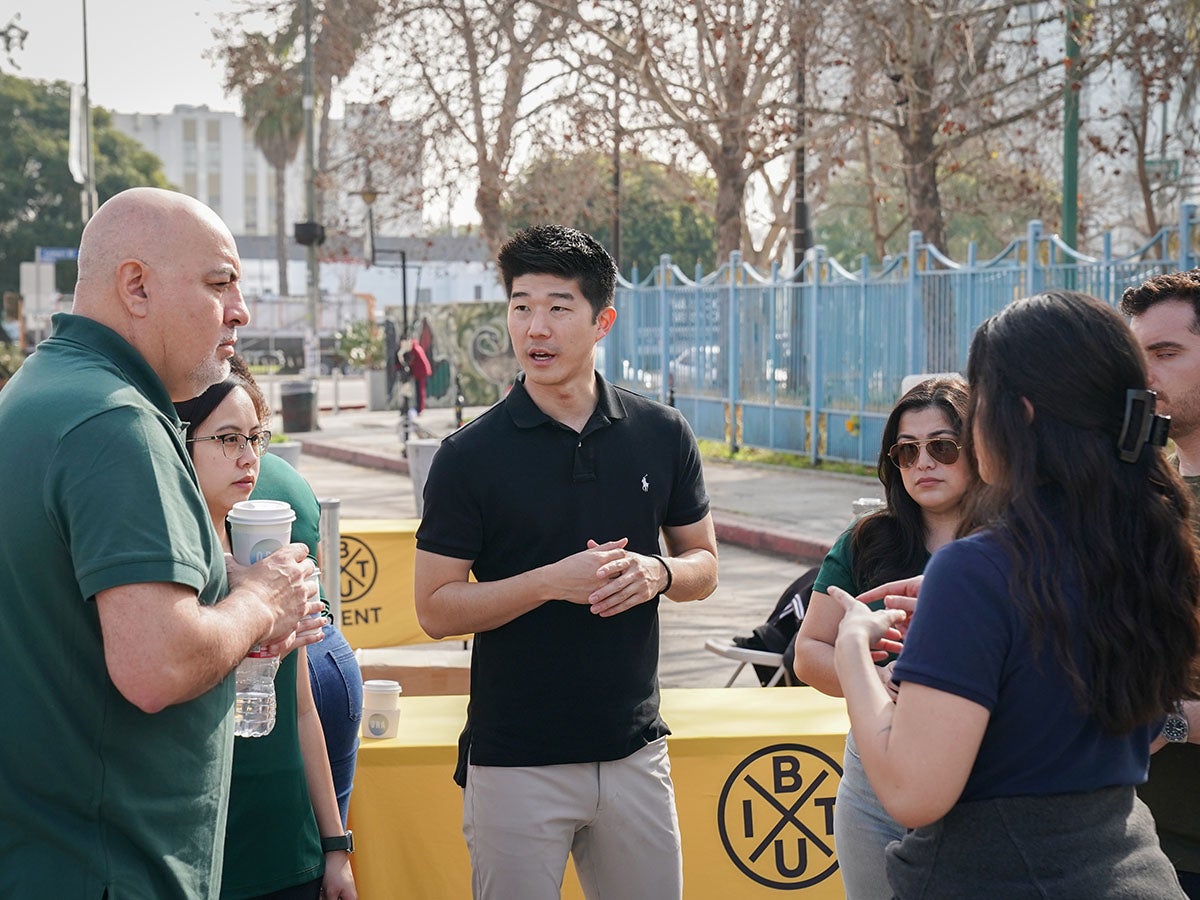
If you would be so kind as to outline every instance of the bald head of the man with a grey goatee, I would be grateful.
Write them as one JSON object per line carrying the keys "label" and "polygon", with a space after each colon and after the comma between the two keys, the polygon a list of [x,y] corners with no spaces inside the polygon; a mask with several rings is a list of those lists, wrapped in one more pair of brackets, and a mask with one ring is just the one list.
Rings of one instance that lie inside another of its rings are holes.
{"label": "bald head of the man with a grey goatee", "polygon": [[79,241],[74,308],[116,331],[190,400],[228,374],[236,328],[248,322],[241,264],[221,217],[187,194],[124,191]]}

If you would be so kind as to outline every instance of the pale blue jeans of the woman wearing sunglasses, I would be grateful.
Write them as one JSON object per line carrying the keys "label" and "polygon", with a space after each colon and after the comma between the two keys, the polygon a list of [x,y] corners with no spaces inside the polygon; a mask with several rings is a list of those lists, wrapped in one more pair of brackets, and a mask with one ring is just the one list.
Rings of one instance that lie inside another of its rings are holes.
{"label": "pale blue jeans of the woman wearing sunglasses", "polygon": [[863,761],[858,758],[854,734],[847,734],[833,812],[833,839],[846,900],[892,900],[883,851],[906,833],[875,796]]}

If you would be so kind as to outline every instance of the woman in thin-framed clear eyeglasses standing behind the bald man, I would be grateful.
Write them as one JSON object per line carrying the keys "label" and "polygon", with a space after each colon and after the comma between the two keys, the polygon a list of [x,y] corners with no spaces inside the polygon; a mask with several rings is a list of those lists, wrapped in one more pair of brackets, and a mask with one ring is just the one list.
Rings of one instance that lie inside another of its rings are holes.
{"label": "woman in thin-framed clear eyeglasses standing behind the bald man", "polygon": [[[229,553],[226,516],[254,490],[271,440],[266,401],[252,378],[234,373],[175,409],[187,422],[200,491]],[[275,684],[270,734],[234,739],[221,896],[355,900],[348,853],[322,851],[322,835],[344,828],[302,647],[281,660]]]}

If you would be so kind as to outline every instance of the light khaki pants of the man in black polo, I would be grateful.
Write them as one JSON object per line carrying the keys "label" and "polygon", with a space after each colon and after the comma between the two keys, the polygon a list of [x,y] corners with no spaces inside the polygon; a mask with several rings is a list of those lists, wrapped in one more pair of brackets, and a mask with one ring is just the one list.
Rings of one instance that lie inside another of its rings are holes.
{"label": "light khaki pants of the man in black polo", "polygon": [[568,854],[589,900],[683,896],[666,738],[611,762],[469,766],[462,832],[476,900],[557,900]]}

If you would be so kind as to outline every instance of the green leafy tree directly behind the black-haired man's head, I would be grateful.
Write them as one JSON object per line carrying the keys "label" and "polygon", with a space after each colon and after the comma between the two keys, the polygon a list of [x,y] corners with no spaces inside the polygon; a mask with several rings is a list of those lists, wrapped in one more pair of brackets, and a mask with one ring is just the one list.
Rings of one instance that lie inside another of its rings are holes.
{"label": "green leafy tree directly behind the black-haired man's head", "polygon": [[[716,253],[716,182],[641,156],[622,158],[620,257],[629,276],[644,275],[659,256],[689,275],[710,271]],[[544,156],[516,179],[504,220],[514,228],[558,222],[612,246],[612,158],[607,154]]]}

